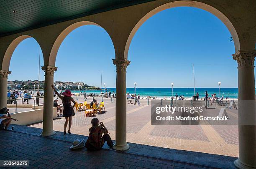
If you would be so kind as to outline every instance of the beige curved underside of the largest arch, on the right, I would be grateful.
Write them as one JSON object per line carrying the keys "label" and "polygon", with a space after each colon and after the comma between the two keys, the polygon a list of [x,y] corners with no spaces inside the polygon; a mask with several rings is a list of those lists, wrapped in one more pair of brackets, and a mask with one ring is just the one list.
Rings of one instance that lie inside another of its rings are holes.
{"label": "beige curved underside of the largest arch, on the right", "polygon": [[240,42],[239,42],[238,34],[235,30],[235,27],[230,22],[228,17],[226,17],[222,12],[220,12],[216,8],[214,8],[210,5],[207,5],[205,3],[202,3],[202,2],[191,1],[191,0],[179,0],[179,1],[175,1],[175,2],[169,2],[169,3],[166,3],[164,5],[160,5],[159,7],[156,7],[154,10],[151,10],[150,12],[148,12],[145,16],[143,16],[137,22],[137,24],[131,30],[131,33],[128,36],[127,42],[125,44],[124,58],[126,58],[126,59],[128,58],[128,50],[129,50],[129,47],[130,47],[130,44],[131,44],[131,40],[133,39],[133,36],[135,35],[135,33],[137,32],[139,27],[141,27],[141,25],[146,20],[148,20],[150,17],[152,17],[153,15],[155,15],[155,14],[157,14],[157,13],[163,11],[163,10],[173,8],[173,7],[197,7],[197,8],[200,8],[202,10],[206,10],[206,11],[212,13],[213,15],[218,17],[226,25],[229,32],[231,33],[231,35],[233,37],[234,44],[235,44],[235,50],[236,50],[235,52],[238,52],[238,50],[240,50]]}

